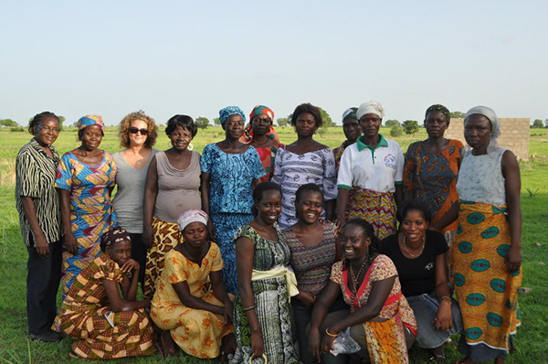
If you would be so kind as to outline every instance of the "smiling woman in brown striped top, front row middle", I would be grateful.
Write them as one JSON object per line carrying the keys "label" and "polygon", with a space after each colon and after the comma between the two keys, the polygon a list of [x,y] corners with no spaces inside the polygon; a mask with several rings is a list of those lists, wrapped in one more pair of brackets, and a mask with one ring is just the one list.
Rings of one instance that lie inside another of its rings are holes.
{"label": "smiling woman in brown striped top, front row middle", "polygon": [[[313,183],[302,185],[295,194],[298,221],[284,230],[291,251],[290,265],[297,277],[299,294],[291,301],[297,334],[299,335],[299,359],[304,364],[314,363],[308,352],[306,327],[311,323],[316,295],[329,282],[331,266],[341,260],[341,245],[337,243],[337,227],[329,221],[321,221],[323,195]],[[346,310],[342,299],[330,311]]]}

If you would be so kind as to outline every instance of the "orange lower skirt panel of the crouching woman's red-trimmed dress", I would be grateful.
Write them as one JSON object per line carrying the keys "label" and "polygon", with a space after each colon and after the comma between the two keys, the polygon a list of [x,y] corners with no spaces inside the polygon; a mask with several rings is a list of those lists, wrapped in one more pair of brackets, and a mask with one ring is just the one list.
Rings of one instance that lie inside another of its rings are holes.
{"label": "orange lower skirt panel of the crouching woman's red-trimmed dress", "polygon": [[408,363],[406,335],[402,318],[396,315],[384,322],[365,321],[367,352],[373,364]]}

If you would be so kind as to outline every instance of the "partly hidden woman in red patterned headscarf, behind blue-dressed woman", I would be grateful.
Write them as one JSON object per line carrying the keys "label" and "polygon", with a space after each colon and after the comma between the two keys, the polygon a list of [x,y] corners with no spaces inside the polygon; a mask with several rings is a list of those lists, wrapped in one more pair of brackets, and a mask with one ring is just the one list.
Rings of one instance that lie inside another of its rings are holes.
{"label": "partly hidden woman in red patterned headscarf, behind blue-dressed woman", "polygon": [[279,149],[278,134],[274,131],[274,112],[267,106],[257,105],[249,115],[249,125],[240,137],[240,142],[250,144],[257,150],[260,162],[267,176],[260,177],[260,182],[269,181],[274,173],[274,160]]}

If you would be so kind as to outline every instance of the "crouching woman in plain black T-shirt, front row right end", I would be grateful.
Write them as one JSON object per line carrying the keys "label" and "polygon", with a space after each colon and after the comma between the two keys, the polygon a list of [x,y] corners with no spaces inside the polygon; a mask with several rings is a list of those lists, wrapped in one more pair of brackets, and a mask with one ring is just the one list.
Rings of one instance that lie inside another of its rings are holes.
{"label": "crouching woman in plain black T-shirt, front row right end", "polygon": [[448,277],[448,243],[435,230],[427,230],[430,209],[416,199],[402,208],[399,233],[381,243],[381,252],[395,263],[402,293],[415,312],[416,345],[432,351],[432,360],[446,361],[443,344],[462,330],[457,301]]}

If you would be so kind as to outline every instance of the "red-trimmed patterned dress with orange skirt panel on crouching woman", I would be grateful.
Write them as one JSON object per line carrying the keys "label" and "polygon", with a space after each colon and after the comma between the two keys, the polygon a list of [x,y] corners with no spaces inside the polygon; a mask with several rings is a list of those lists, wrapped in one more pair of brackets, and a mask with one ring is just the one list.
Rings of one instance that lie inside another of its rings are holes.
{"label": "red-trimmed patterned dress with orange skirt panel on crouching woman", "polygon": [[351,312],[367,305],[375,281],[396,276],[392,291],[378,315],[387,320],[364,322],[364,332],[367,337],[367,351],[372,363],[408,363],[404,325],[416,333],[416,320],[413,310],[402,294],[394,262],[385,255],[377,256],[367,270],[364,281],[358,287],[355,295],[348,288],[348,270],[343,270],[342,267],[343,262],[333,264],[331,280],[341,286],[342,297],[344,302],[350,305]]}

